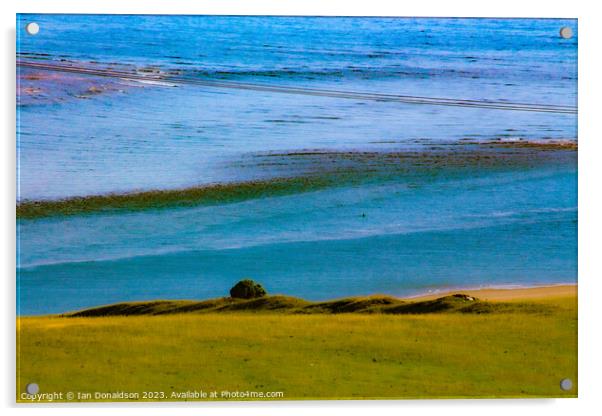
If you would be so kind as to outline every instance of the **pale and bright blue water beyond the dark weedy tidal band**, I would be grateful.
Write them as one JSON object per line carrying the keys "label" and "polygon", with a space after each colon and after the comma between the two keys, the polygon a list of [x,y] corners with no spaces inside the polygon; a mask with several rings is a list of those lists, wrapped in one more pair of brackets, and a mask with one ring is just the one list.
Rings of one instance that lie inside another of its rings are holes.
{"label": "pale and bright blue water beyond the dark weedy tidal band", "polygon": [[[119,63],[196,79],[576,105],[577,37],[558,36],[563,25],[577,31],[572,20],[23,15],[20,26],[28,21],[42,31],[18,31],[18,55],[37,62]],[[42,91],[22,94],[19,199],[227,181],[233,173],[223,171],[224,161],[265,150],[576,138],[571,114],[119,79],[86,83],[85,76],[69,81],[73,77],[63,74],[58,86],[34,82]],[[90,86],[108,91],[86,93]]]}

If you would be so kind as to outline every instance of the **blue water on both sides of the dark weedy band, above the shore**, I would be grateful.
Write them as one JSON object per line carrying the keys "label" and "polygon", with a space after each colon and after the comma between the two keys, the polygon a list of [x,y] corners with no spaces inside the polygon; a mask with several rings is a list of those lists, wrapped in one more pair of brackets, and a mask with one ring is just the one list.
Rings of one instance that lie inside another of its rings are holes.
{"label": "blue water on both sides of the dark weedy band, above the shore", "polygon": [[[574,20],[86,15],[18,20],[18,27],[40,24],[37,36],[18,30],[18,58],[38,62],[576,105],[577,38],[558,36],[562,26],[577,33]],[[39,81],[32,71],[19,72],[22,85],[38,88],[21,94],[18,107],[19,199],[323,171],[323,160],[316,168],[294,156],[308,149],[386,155],[454,149],[466,139],[577,137],[571,114],[159,86],[60,73]],[[103,92],[87,94],[91,86]],[[266,162],[265,155],[273,153],[283,156]],[[19,313],[222,296],[242,277],[262,282],[270,292],[308,299],[575,282],[576,155],[540,153],[529,163],[502,154],[497,158],[509,162],[495,168],[470,160],[460,169],[444,163],[424,172],[230,204],[19,220]],[[349,163],[344,157],[331,162]],[[360,176],[371,172],[358,166]]]}

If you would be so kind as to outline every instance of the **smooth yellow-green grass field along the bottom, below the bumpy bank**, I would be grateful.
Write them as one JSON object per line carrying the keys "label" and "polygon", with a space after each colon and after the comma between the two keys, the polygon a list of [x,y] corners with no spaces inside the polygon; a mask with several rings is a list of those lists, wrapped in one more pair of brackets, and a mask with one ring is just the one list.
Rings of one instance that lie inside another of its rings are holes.
{"label": "smooth yellow-green grass field along the bottom, below the bumpy bank", "polygon": [[[282,392],[278,400],[576,397],[574,297],[480,304],[489,307],[23,317],[17,400],[29,401],[21,394],[30,382],[74,401],[119,391],[182,400],[172,393],[195,390],[219,400],[222,391]],[[563,378],[571,391],[560,389]]]}

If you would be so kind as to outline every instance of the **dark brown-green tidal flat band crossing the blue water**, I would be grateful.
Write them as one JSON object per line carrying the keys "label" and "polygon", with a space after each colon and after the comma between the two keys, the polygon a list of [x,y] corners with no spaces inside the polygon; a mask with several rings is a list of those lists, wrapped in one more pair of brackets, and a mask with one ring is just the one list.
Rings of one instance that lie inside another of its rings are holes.
{"label": "dark brown-green tidal flat band crossing the blue water", "polygon": [[[550,152],[550,150],[554,152]],[[533,169],[552,163],[576,163],[575,141],[495,141],[420,146],[402,151],[332,151],[308,149],[247,155],[232,162],[244,182],[223,182],[181,189],[25,199],[17,203],[17,219],[35,219],[119,211],[156,210],[235,203],[325,188],[374,182],[434,181],[444,177]]]}

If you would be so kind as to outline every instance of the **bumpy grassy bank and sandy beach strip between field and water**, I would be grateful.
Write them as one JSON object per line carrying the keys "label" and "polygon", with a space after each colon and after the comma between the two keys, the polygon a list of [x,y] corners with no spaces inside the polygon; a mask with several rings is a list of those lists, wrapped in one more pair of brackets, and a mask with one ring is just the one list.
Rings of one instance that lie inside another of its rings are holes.
{"label": "bumpy grassy bank and sandy beach strip between field and water", "polygon": [[[476,313],[487,312],[503,305],[539,303],[578,297],[577,284],[557,284],[517,288],[476,288],[446,290],[414,297],[395,297],[384,294],[349,296],[323,301],[309,301],[289,295],[273,294],[252,299],[219,297],[209,299],[150,299],[124,301],[84,307],[43,315],[17,315],[20,318],[70,318],[102,316],[171,315],[222,312],[280,312],[280,313],[392,313],[414,314],[463,310],[466,302],[485,307]],[[497,306],[496,306],[497,305]],[[493,309],[492,309],[493,308]]]}

